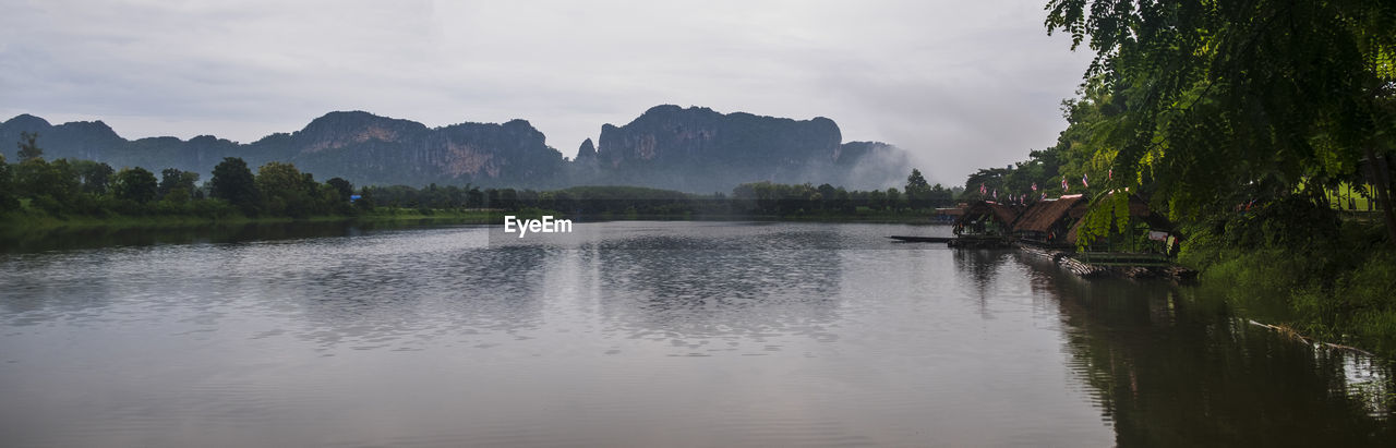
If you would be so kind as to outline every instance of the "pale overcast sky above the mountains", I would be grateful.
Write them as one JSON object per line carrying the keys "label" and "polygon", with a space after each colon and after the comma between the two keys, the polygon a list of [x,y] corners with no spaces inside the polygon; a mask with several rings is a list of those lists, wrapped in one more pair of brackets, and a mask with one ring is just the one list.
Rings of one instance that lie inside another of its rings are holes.
{"label": "pale overcast sky above the mountains", "polygon": [[572,156],[706,106],[829,117],[945,184],[1053,145],[1090,61],[1046,0],[0,3],[0,120],[251,142],[332,110],[525,119]]}

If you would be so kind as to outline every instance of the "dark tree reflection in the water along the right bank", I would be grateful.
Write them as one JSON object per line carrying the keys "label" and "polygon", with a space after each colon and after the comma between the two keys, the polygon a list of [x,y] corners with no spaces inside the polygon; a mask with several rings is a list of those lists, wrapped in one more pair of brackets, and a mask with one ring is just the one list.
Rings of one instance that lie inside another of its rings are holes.
{"label": "dark tree reflection in the water along the right bank", "polygon": [[[1120,445],[1372,445],[1396,442],[1386,401],[1347,394],[1347,353],[1315,350],[1230,317],[1195,289],[1082,282],[1046,264],[1076,374]],[[1187,299],[1182,299],[1187,297]],[[1390,377],[1382,380],[1390,391]]]}

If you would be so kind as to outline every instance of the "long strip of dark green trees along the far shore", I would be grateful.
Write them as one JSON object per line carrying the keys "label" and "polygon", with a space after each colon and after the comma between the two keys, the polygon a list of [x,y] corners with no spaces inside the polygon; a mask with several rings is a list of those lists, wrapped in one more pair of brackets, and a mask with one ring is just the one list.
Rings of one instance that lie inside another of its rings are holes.
{"label": "long strip of dark green trees along the far shore", "polygon": [[927,184],[912,170],[903,188],[845,190],[831,184],[747,183],[726,194],[687,194],[644,187],[571,187],[553,191],[476,186],[367,186],[345,179],[317,181],[282,162],[255,173],[240,158],[226,158],[212,177],[163,169],[113,169],[92,160],[45,160],[38,135],[25,134],[18,163],[0,155],[0,212],[28,204],[52,216],[353,216],[376,208],[556,211],[572,216],[853,216],[926,214],[953,204],[956,191]]}

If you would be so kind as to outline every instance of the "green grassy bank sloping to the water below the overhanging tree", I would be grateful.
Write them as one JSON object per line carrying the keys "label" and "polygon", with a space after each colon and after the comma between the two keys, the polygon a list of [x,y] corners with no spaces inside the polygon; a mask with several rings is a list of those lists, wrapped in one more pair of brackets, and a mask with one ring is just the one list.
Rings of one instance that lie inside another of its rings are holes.
{"label": "green grassy bank sloping to the water below the overhanging tree", "polygon": [[[1396,357],[1396,248],[1381,223],[1349,216],[1329,232],[1244,227],[1192,229],[1180,262],[1242,315]],[[1245,241],[1247,233],[1261,241]]]}

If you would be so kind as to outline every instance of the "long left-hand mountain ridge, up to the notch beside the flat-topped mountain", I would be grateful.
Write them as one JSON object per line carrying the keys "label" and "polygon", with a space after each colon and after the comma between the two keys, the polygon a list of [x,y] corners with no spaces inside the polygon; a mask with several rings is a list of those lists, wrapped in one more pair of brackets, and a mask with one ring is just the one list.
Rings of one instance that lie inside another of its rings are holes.
{"label": "long left-hand mountain ridge, up to the notch beside the flat-topped mountain", "polygon": [[[253,167],[271,160],[290,162],[320,180],[343,177],[356,184],[565,186],[563,155],[524,120],[427,128],[366,112],[332,112],[300,131],[267,135],[251,144],[208,135],[188,141],[174,137],[128,141],[102,121],[49,126],[28,114],[0,124],[4,141],[18,141],[22,131],[39,133],[46,159],[80,158],[155,172],[177,167],[202,173],[204,179],[225,156],[237,156]],[[17,160],[17,152],[11,145],[6,158]]]}

